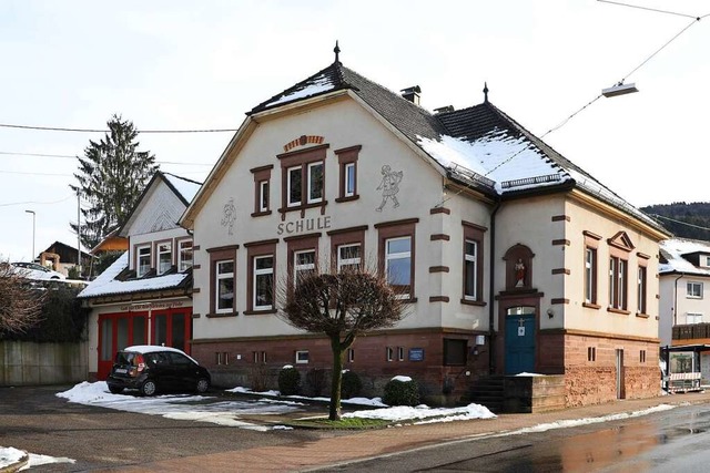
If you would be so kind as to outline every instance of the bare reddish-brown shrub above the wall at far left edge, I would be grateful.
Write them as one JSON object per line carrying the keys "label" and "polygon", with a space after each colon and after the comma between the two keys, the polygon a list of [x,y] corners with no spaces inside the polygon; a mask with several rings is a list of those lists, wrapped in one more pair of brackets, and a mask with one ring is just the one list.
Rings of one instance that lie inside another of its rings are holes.
{"label": "bare reddish-brown shrub above the wall at far left edge", "polygon": [[44,292],[33,289],[7,261],[0,263],[0,336],[23,332],[41,320]]}

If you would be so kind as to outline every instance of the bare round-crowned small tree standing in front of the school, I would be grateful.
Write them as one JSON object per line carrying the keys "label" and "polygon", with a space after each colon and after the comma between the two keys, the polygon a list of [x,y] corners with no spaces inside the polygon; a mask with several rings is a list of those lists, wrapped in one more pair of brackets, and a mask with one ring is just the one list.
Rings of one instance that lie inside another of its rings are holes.
{"label": "bare round-crowned small tree standing in front of the school", "polygon": [[368,330],[393,327],[405,317],[397,291],[377,271],[354,268],[339,274],[308,271],[283,281],[285,304],[280,317],[298,329],[325,333],[333,350],[333,382],[328,418],[341,419],[343,358],[355,338]]}

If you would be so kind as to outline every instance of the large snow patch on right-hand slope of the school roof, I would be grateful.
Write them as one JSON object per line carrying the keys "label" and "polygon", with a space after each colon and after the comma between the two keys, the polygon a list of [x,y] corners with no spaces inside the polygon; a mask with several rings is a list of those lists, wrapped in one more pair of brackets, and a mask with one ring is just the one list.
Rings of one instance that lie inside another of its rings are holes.
{"label": "large snow patch on right-hand slope of the school roof", "polygon": [[[546,160],[532,143],[499,131],[493,131],[474,142],[448,135],[442,135],[440,141],[418,136],[418,144],[446,168],[464,166],[493,179],[499,194],[570,179],[568,174],[560,175],[564,169]],[[538,179],[528,182],[535,177]]]}

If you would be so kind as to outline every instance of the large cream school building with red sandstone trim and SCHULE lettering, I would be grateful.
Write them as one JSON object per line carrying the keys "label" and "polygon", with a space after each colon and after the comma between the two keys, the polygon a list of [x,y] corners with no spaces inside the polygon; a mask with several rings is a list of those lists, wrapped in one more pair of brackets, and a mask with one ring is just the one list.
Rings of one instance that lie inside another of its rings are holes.
{"label": "large cream school building with red sandstone trim and SCHULE lettering", "polygon": [[246,113],[181,218],[194,233],[192,354],[214,382],[327,368],[327,338],[278,317],[277,285],[372,263],[410,312],[346,354],[372,391],[406,374],[460,398],[491,376],[539,373],[560,405],[658,395],[669,234],[487,88],[478,105],[430,113],[420,88],[392,92],[335,52]]}

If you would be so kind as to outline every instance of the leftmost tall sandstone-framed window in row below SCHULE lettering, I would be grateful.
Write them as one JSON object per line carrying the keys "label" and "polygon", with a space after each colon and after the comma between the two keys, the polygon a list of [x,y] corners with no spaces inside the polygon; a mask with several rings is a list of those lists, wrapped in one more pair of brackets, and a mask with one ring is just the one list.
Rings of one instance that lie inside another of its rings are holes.
{"label": "leftmost tall sandstone-framed window in row below SCHULE lettering", "polygon": [[[182,243],[190,243],[185,240]],[[210,254],[210,313],[207,317],[224,317],[225,315],[236,315],[235,300],[235,268],[236,268],[235,246],[207,249]],[[192,245],[190,245],[192,250]]]}

